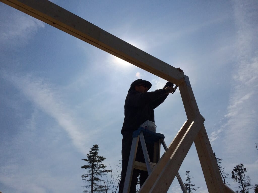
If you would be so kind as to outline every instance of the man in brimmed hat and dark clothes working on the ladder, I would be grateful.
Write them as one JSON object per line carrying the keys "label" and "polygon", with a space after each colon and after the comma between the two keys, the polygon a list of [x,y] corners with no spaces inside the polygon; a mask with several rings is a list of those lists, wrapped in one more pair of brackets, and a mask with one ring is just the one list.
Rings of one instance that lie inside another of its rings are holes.
{"label": "man in brimmed hat and dark clothes working on the ladder", "polygon": [[[125,99],[125,118],[121,133],[122,139],[122,172],[121,181],[119,184],[119,193],[123,192],[125,175],[130,156],[132,145],[133,131],[137,130],[140,125],[150,120],[154,120],[154,109],[158,107],[167,98],[169,93],[174,91],[173,83],[167,82],[163,89],[158,89],[153,92],[147,92],[151,88],[151,83],[146,80],[138,79],[132,82]],[[149,153],[150,161],[153,162],[154,146],[153,144],[146,144]],[[141,144],[138,144],[136,153],[136,161],[144,162],[144,156]],[[130,193],[136,192],[137,177],[140,174],[140,187],[148,177],[148,172],[134,169]]]}

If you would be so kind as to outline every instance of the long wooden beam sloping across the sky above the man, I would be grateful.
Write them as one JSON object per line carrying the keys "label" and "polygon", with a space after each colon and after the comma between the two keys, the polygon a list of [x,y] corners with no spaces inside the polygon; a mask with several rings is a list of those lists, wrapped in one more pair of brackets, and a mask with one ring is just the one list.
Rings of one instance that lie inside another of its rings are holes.
{"label": "long wooden beam sloping across the sky above the man", "polygon": [[55,28],[167,81],[180,85],[184,73],[47,0],[0,0]]}

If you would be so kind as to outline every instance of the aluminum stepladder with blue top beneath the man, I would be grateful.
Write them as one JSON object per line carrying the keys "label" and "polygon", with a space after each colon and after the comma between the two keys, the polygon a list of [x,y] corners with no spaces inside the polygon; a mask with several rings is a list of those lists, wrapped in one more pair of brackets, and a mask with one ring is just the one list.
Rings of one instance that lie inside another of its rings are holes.
{"label": "aluminum stepladder with blue top beneath the man", "polygon": [[[164,149],[167,150],[167,146],[165,144],[164,138],[165,138],[165,136],[163,134],[155,133],[153,131],[144,129],[143,127],[139,127],[138,130],[133,132],[133,141],[132,141],[132,146],[131,146],[131,151],[130,151],[130,157],[128,160],[127,170],[126,170],[123,193],[129,193],[129,191],[130,191],[131,180],[132,180],[134,168],[139,169],[139,170],[148,171],[148,174],[150,175],[152,168],[154,166],[156,166],[156,164],[158,163],[158,161],[160,159],[160,145],[162,144]],[[145,163],[135,161],[139,139],[141,142],[142,152],[144,155]],[[153,162],[150,162],[146,142],[154,144]],[[184,186],[184,183],[183,183],[179,173],[176,174],[176,178],[178,179],[178,182],[180,184],[180,187],[181,187],[183,193],[187,193],[186,187]]]}

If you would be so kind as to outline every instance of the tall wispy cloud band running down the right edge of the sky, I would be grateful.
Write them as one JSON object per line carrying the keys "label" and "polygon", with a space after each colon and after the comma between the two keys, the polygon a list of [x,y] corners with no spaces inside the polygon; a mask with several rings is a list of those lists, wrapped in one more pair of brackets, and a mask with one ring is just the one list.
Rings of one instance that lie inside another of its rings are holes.
{"label": "tall wispy cloud band running down the right edge of the sky", "polygon": [[[244,3],[235,1],[235,20],[239,28],[236,42],[236,69],[233,69],[230,98],[225,123],[213,132],[211,142],[225,132],[225,147],[228,152],[243,151],[257,139],[257,94],[258,94],[258,58],[257,40],[258,28],[253,25],[258,14],[252,9],[257,2]],[[256,136],[256,137],[255,137]],[[236,140],[241,140],[239,146]],[[235,147],[238,148],[235,148]]]}

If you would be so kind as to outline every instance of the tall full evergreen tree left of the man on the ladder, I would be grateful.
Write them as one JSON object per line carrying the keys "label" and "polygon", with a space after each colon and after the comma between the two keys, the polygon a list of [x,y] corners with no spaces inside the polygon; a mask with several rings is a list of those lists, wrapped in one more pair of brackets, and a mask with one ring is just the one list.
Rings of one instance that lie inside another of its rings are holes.
{"label": "tall full evergreen tree left of the man on the ladder", "polygon": [[83,165],[81,168],[87,169],[86,174],[82,175],[82,180],[85,180],[89,184],[84,186],[88,190],[84,190],[84,193],[87,192],[107,192],[107,188],[103,183],[107,180],[103,180],[102,177],[106,177],[108,172],[112,170],[106,170],[106,165],[102,164],[105,157],[98,155],[99,154],[99,145],[95,144],[91,148],[91,151],[87,154],[87,159],[82,159],[88,162],[88,165]]}

